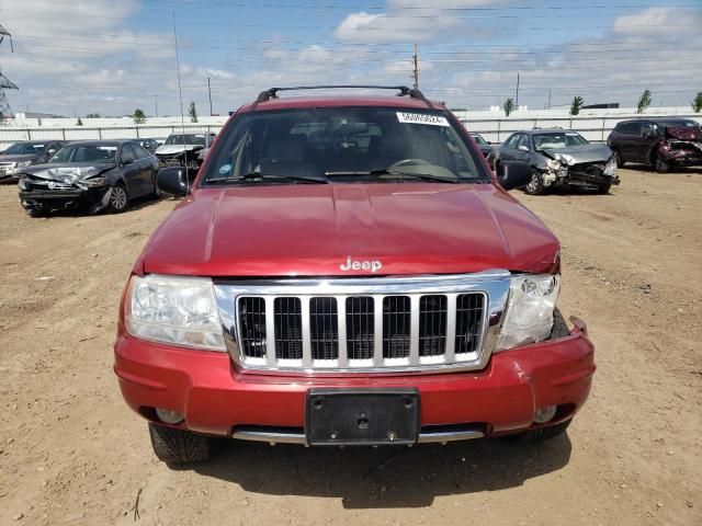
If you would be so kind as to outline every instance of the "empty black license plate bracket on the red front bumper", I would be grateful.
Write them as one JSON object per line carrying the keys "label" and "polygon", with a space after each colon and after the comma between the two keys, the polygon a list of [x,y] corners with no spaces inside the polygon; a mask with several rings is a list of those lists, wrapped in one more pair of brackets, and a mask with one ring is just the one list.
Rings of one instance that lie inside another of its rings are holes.
{"label": "empty black license plate bracket on the red front bumper", "polygon": [[416,444],[419,414],[417,389],[309,389],[305,437],[310,446]]}

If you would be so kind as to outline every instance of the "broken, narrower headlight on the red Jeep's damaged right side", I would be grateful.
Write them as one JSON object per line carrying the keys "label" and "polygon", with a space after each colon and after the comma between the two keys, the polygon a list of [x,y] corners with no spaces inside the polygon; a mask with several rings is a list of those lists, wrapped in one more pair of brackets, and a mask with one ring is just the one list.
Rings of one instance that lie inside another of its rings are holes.
{"label": "broken, narrower headlight on the red Jeep's damaged right side", "polygon": [[553,311],[559,290],[558,275],[512,276],[497,350],[503,351],[546,340],[553,328]]}

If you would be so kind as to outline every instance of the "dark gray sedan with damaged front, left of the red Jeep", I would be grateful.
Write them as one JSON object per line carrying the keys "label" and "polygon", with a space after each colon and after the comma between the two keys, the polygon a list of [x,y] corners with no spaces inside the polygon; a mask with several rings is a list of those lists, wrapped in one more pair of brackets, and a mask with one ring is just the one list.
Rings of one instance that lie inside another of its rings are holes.
{"label": "dark gray sedan with damaged front, left of the red Jeep", "polygon": [[20,170],[20,202],[30,216],[68,208],[124,211],[158,196],[158,160],[132,140],[90,140],[61,148],[45,164]]}

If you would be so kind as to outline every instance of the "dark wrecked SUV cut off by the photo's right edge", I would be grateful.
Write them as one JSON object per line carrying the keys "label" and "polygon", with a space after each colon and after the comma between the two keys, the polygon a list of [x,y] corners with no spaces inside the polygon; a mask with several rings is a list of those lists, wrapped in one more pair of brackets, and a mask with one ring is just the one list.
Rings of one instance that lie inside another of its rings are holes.
{"label": "dark wrecked SUV cut off by the photo's right edge", "polygon": [[690,118],[623,121],[612,130],[607,144],[619,167],[625,162],[643,162],[665,173],[675,165],[702,164],[702,128]]}

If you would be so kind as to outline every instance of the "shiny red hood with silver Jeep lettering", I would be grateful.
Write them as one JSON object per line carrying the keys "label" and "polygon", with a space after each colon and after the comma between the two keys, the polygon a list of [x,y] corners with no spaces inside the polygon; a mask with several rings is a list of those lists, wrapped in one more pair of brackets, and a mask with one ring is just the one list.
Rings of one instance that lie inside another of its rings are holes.
{"label": "shiny red hood with silver Jeep lettering", "polygon": [[147,244],[137,272],[353,276],[551,272],[559,245],[492,184],[201,188]]}

